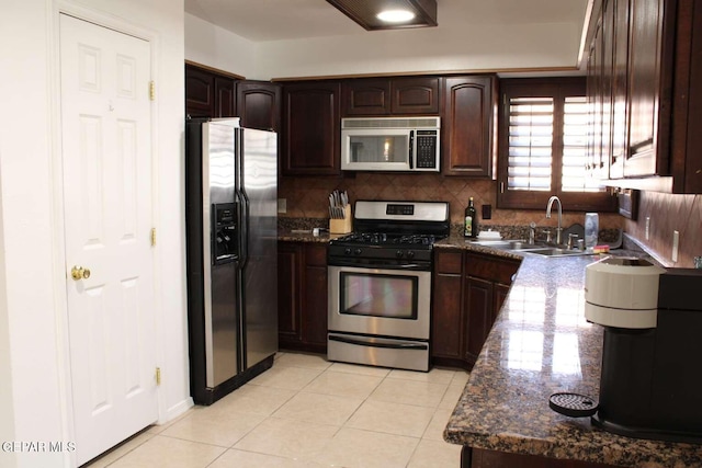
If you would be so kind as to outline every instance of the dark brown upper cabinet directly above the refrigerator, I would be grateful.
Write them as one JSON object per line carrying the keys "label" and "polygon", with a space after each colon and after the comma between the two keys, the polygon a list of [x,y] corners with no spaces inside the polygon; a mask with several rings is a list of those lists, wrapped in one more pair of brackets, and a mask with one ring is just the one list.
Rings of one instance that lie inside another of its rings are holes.
{"label": "dark brown upper cabinet directly above the refrigerator", "polygon": [[185,64],[185,114],[191,117],[235,117],[237,78]]}

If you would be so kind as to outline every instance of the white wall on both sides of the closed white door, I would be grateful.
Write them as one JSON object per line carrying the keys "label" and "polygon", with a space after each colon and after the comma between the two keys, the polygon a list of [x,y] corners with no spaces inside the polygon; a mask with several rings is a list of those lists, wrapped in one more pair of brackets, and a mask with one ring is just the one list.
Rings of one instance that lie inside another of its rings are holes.
{"label": "white wall on both sides of the closed white door", "polygon": [[[55,185],[59,168],[57,12],[59,0],[3,2],[0,16],[0,435],[14,441],[68,442],[65,275]],[[86,0],[104,18],[154,33],[157,117],[156,201],[160,297],[157,311],[166,421],[190,401],[183,215],[183,2],[182,0]],[[4,409],[11,401],[12,412]],[[3,438],[4,441],[4,438]],[[66,454],[0,450],[0,466],[68,466]]]}

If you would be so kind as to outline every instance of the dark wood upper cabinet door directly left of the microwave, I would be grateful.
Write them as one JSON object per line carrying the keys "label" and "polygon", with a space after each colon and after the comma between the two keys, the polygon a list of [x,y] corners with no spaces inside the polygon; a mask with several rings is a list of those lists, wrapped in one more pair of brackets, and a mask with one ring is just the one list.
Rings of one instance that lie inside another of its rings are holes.
{"label": "dark wood upper cabinet door directly left of the microwave", "polygon": [[338,82],[291,83],[283,88],[284,175],[341,173]]}

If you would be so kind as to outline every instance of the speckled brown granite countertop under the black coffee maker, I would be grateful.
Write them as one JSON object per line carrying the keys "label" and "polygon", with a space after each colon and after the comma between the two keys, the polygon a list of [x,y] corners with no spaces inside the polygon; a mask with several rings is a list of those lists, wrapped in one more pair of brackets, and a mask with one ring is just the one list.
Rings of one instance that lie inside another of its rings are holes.
{"label": "speckled brown granite countertop under the black coffee maker", "polygon": [[584,297],[585,267],[599,258],[524,255],[446,425],[448,442],[626,467],[702,466],[702,445],[619,436],[548,408],[554,392],[599,396],[602,328],[585,320]]}

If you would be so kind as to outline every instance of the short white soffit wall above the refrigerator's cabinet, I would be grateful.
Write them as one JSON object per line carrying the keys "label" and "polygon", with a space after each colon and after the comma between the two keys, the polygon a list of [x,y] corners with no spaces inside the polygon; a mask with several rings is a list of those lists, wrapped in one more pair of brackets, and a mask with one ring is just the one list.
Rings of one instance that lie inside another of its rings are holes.
{"label": "short white soffit wall above the refrigerator's cabinet", "polygon": [[257,76],[253,43],[185,13],[185,59],[236,73]]}

